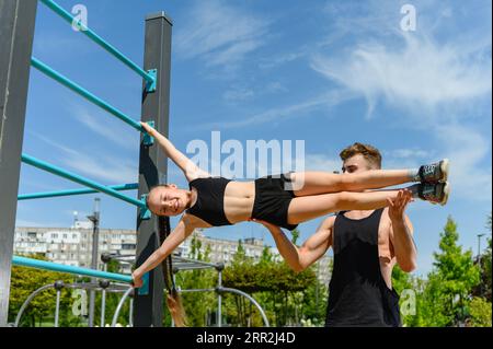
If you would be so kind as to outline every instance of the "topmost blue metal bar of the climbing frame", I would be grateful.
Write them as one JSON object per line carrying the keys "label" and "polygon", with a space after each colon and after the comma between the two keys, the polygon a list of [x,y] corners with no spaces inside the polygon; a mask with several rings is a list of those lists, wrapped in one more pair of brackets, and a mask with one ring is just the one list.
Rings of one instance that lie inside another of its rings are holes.
{"label": "topmost blue metal bar of the climbing frame", "polygon": [[137,66],[135,62],[133,62],[129,58],[127,58],[124,54],[122,54],[119,50],[117,50],[114,46],[110,45],[106,40],[104,40],[101,36],[95,34],[93,31],[91,31],[89,27],[87,27],[81,21],[78,21],[73,15],[69,12],[67,12],[64,8],[61,8],[59,4],[57,4],[55,1],[51,0],[41,0],[45,5],[47,5],[49,9],[51,9],[54,12],[56,12],[59,16],[61,16],[64,20],[66,20],[71,25],[76,24],[82,34],[88,36],[90,39],[92,39],[94,43],[103,47],[106,51],[112,54],[115,58],[121,60],[125,66],[134,70],[136,73],[138,73],[140,77],[146,79],[149,83],[153,83],[156,81],[156,78],[141,69],[139,66]]}

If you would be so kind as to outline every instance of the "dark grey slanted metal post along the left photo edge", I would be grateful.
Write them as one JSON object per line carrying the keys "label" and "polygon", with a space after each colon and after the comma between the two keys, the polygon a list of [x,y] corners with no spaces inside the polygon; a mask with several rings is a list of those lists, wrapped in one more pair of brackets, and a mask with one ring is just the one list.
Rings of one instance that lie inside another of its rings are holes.
{"label": "dark grey slanted metal post along the left photo edge", "polygon": [[37,0],[0,1],[0,327],[7,326]]}

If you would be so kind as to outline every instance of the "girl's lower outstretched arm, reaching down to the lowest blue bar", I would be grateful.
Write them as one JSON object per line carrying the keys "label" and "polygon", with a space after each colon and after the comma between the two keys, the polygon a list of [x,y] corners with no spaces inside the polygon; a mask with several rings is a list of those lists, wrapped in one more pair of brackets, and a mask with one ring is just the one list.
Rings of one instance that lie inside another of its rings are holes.
{"label": "girl's lower outstretched arm, reaching down to the lowest blue bar", "polygon": [[134,270],[131,277],[134,278],[134,286],[139,288],[142,286],[142,276],[154,269],[157,266],[161,264],[182,242],[185,241],[186,237],[192,234],[194,229],[197,228],[195,224],[190,222],[190,218],[184,214],[176,228],[173,229],[171,234],[164,240],[161,247],[154,251],[152,255],[147,258],[145,263],[140,267]]}

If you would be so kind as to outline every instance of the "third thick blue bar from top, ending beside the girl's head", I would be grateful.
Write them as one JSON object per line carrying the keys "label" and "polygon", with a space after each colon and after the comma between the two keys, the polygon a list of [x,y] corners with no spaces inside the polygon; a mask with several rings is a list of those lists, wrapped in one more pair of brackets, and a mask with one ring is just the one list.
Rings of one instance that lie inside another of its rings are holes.
{"label": "third thick blue bar from top, ending beside the girl's head", "polygon": [[37,167],[39,170],[47,171],[47,172],[53,173],[53,174],[55,174],[57,176],[60,176],[60,177],[64,177],[66,179],[69,179],[69,181],[76,182],[78,184],[84,185],[87,187],[93,188],[94,190],[107,194],[107,195],[113,196],[113,197],[115,197],[117,199],[121,199],[121,200],[124,200],[124,201],[126,201],[128,203],[135,205],[135,206],[137,206],[137,207],[139,207],[141,209],[146,209],[147,208],[147,206],[146,206],[146,203],[144,201],[139,201],[139,200],[136,200],[134,198],[127,197],[127,196],[125,196],[123,194],[119,194],[115,189],[108,188],[108,187],[106,187],[104,185],[101,185],[101,184],[99,184],[96,182],[93,182],[91,179],[88,179],[88,178],[81,177],[81,176],[79,176],[77,174],[73,174],[73,173],[70,173],[68,171],[65,171],[65,170],[62,170],[60,167],[51,165],[51,164],[49,164],[47,162],[44,162],[42,160],[38,160],[36,158],[30,156],[27,154],[22,154],[21,159],[22,159],[22,162],[24,162],[24,163],[26,163],[28,165],[32,165],[34,167]]}

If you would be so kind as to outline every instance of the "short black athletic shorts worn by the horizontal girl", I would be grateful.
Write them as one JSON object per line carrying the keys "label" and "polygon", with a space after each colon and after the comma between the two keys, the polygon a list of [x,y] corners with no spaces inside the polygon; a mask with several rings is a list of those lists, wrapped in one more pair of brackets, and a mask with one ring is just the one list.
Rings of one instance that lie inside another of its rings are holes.
{"label": "short black athletic shorts worn by the horizontal girl", "polygon": [[296,197],[290,188],[290,178],[285,175],[255,179],[255,201],[252,218],[294,230],[298,224],[288,224],[289,202]]}

